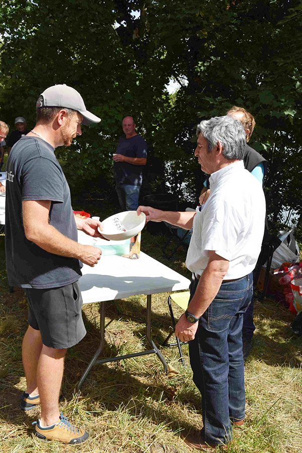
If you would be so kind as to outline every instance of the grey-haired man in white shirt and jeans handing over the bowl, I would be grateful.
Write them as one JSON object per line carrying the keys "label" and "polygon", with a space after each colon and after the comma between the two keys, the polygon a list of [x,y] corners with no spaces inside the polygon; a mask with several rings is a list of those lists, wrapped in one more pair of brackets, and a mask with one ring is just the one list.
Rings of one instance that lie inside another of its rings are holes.
{"label": "grey-haired man in white shirt and jeans handing over the bowl", "polygon": [[193,448],[208,451],[232,441],[232,424],[245,418],[243,314],[253,291],[252,271],[261,250],[265,199],[261,185],[244,168],[242,123],[230,116],[201,121],[195,156],[210,174],[210,196],[196,212],[139,206],[147,220],[191,229],[186,265],[191,297],[176,325],[189,341],[193,381],[202,395],[203,428],[183,433]]}

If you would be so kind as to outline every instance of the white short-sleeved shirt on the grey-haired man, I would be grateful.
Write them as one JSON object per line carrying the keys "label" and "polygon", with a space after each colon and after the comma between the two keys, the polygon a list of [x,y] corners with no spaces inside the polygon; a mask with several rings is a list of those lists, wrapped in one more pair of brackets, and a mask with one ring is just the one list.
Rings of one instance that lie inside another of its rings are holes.
{"label": "white short-sleeved shirt on the grey-haired man", "polygon": [[245,170],[243,161],[212,173],[209,181],[210,196],[193,219],[186,266],[201,275],[211,250],[230,261],[224,280],[244,277],[254,270],[261,250],[265,221],[262,186]]}

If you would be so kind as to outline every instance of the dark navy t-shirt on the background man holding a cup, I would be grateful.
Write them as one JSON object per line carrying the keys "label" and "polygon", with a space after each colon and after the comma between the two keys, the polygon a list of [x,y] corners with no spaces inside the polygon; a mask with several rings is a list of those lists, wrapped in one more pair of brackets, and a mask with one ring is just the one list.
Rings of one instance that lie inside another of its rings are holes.
{"label": "dark navy t-shirt on the background man holding a cup", "polygon": [[[136,134],[131,138],[121,135],[118,140],[116,154],[131,158],[147,158],[147,144],[141,135]],[[128,162],[114,162],[114,179],[120,184],[140,186],[142,183],[142,165],[133,165]]]}

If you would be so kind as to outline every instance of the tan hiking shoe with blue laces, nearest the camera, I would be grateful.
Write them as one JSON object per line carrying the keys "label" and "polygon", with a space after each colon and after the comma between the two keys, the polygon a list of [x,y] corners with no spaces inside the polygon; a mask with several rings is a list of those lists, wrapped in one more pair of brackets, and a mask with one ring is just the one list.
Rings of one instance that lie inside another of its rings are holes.
{"label": "tan hiking shoe with blue laces, nearest the camera", "polygon": [[59,442],[74,445],[85,442],[89,437],[89,434],[85,431],[85,429],[76,428],[71,425],[68,418],[64,417],[62,412],[59,420],[47,428],[40,426],[40,420],[34,422],[33,424],[36,425],[36,436],[42,440],[58,440]]}

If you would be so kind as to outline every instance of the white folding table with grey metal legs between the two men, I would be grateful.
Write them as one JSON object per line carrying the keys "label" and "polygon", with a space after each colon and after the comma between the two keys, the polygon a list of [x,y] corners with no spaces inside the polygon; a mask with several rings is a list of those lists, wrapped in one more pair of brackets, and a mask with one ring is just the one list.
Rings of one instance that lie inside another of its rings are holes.
{"label": "white folding table with grey metal legs between the two men", "polygon": [[[80,237],[79,242],[81,242]],[[83,304],[92,304],[94,302],[101,302],[102,304],[100,307],[99,347],[83,373],[77,390],[80,391],[92,366],[104,362],[156,354],[163,364],[164,371],[167,371],[167,363],[151,336],[152,294],[188,289],[190,280],[142,252],[140,252],[138,260],[130,260],[117,255],[102,256],[94,267],[84,265],[82,273],[83,276],[80,278],[79,283]],[[97,360],[104,347],[106,301],[135,294],[146,294],[147,296],[146,338],[152,349]]]}

